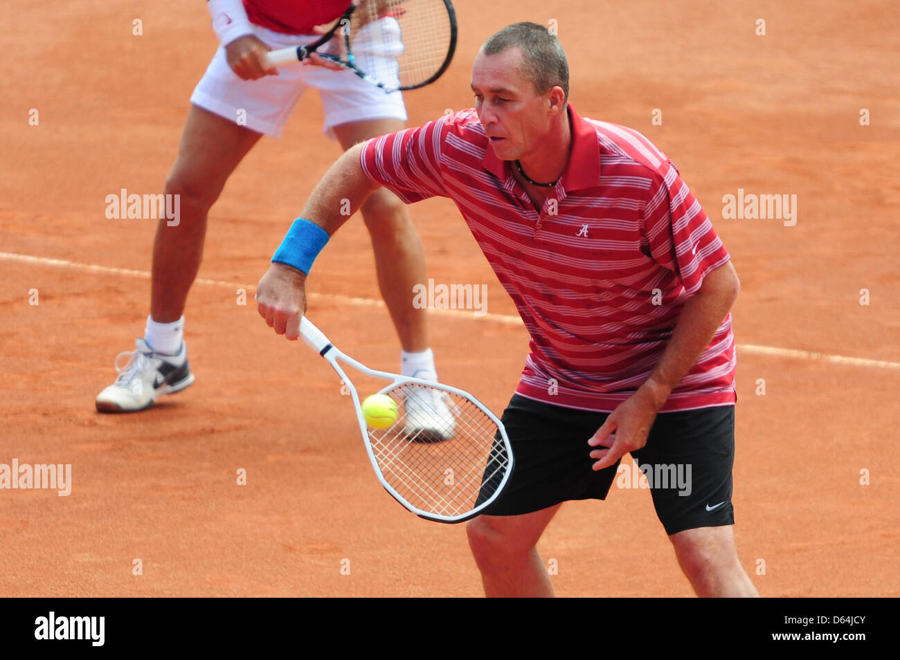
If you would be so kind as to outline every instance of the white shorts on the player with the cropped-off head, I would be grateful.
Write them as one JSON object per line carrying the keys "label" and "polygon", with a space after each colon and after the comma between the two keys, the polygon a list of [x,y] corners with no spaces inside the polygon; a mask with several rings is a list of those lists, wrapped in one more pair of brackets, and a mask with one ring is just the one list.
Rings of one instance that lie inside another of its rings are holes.
{"label": "white shorts on the player with the cropped-off head", "polygon": [[[253,31],[272,49],[318,39],[317,35],[282,34],[258,25],[253,26]],[[275,138],[281,135],[287,118],[308,87],[320,92],[325,111],[323,129],[332,138],[332,127],[350,121],[407,120],[401,92],[386,93],[351,71],[298,63],[279,67],[278,73],[258,80],[241,80],[228,66],[225,49],[220,46],[194,88],[191,103]]]}

